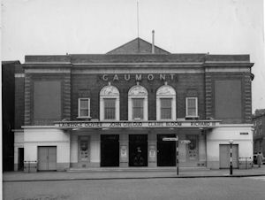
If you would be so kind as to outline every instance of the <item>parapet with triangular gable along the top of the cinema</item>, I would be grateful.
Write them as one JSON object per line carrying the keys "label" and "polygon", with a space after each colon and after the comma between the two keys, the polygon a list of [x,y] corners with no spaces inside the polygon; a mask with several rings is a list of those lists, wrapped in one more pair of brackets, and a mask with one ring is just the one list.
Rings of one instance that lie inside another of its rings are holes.
{"label": "parapet with triangular gable along the top of the cinema", "polygon": [[106,54],[67,54],[26,56],[25,65],[244,65],[252,66],[249,55],[210,55],[206,53],[171,54],[141,38],[110,50]]}

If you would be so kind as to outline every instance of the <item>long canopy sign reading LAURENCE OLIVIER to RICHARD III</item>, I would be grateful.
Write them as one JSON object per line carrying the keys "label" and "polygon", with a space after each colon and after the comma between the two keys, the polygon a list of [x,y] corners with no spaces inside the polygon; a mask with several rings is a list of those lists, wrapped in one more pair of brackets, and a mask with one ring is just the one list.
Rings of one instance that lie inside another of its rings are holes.
{"label": "long canopy sign reading LAURENCE OLIVIER to RICHARD III", "polygon": [[140,128],[140,127],[218,127],[218,120],[184,120],[184,121],[57,121],[58,128]]}

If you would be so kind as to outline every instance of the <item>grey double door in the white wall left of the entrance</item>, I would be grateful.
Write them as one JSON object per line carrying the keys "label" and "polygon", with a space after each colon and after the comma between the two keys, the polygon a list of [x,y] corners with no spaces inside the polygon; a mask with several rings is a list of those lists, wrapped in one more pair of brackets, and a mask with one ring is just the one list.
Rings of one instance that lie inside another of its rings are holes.
{"label": "grey double door in the white wall left of the entrance", "polygon": [[57,170],[57,147],[38,147],[38,170]]}

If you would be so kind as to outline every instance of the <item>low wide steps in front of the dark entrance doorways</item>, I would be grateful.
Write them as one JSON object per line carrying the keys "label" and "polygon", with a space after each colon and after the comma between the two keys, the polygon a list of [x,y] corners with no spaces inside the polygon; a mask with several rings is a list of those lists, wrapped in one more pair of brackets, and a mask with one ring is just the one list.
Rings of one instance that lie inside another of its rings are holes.
{"label": "low wide steps in front of the dark entrance doorways", "polygon": [[[67,172],[175,172],[173,167],[90,167],[90,168],[69,168]],[[208,171],[207,167],[179,167],[179,171]]]}

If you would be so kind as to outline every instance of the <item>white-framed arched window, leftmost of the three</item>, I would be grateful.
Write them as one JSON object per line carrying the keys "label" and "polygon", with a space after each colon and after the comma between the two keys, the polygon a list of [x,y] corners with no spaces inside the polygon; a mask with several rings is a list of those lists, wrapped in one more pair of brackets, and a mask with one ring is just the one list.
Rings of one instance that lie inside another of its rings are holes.
{"label": "white-framed arched window, leftmost of the three", "polygon": [[110,83],[100,91],[100,120],[119,120],[119,91]]}

